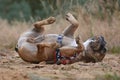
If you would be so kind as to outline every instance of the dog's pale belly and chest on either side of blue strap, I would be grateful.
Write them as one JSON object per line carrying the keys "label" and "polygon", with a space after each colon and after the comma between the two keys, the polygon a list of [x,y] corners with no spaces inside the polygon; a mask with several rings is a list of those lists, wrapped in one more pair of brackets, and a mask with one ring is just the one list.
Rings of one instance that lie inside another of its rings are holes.
{"label": "dog's pale belly and chest on either side of blue strap", "polygon": [[[43,42],[56,42],[57,38],[58,38],[58,34],[47,34],[45,35],[45,40],[43,40]],[[72,46],[72,47],[76,47],[76,41],[75,39],[69,38],[64,36],[62,39],[62,45],[63,46]]]}

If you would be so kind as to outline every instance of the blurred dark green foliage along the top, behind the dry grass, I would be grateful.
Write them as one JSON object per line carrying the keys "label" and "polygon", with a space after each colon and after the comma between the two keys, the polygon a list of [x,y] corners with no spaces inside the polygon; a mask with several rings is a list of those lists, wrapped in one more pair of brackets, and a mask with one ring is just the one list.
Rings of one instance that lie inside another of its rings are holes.
{"label": "blurred dark green foliage along the top, behind the dry grass", "polygon": [[120,0],[0,0],[0,17],[9,21],[30,21],[67,11],[78,13],[81,8],[95,18],[111,18],[119,14]]}

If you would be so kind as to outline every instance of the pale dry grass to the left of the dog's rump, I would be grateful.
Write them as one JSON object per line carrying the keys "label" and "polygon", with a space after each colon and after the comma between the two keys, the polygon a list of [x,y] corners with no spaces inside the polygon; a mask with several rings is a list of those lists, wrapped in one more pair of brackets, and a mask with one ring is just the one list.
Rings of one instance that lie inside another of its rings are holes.
{"label": "pale dry grass to the left of the dog's rump", "polygon": [[0,24],[0,49],[14,50],[20,34],[30,27],[26,22],[14,21],[13,24],[9,24],[7,20],[1,19]]}

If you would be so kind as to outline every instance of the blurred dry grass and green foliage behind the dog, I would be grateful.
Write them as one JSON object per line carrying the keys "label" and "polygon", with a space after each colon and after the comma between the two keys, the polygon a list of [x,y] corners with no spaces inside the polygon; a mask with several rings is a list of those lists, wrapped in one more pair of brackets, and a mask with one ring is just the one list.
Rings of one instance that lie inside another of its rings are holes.
{"label": "blurred dry grass and green foliage behind the dog", "polygon": [[102,35],[110,53],[120,53],[120,0],[0,0],[0,50],[14,49],[21,33],[35,21],[56,17],[45,33],[61,33],[69,26],[66,13],[79,21],[75,33],[83,41]]}

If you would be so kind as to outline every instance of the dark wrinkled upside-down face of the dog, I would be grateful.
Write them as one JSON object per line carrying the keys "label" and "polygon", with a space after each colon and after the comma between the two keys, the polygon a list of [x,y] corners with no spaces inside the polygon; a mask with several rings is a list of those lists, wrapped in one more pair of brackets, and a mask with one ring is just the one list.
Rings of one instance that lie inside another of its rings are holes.
{"label": "dark wrinkled upside-down face of the dog", "polygon": [[106,52],[106,41],[104,40],[103,36],[94,36],[92,40],[93,41],[91,41],[90,46],[93,51],[97,51],[100,53]]}

